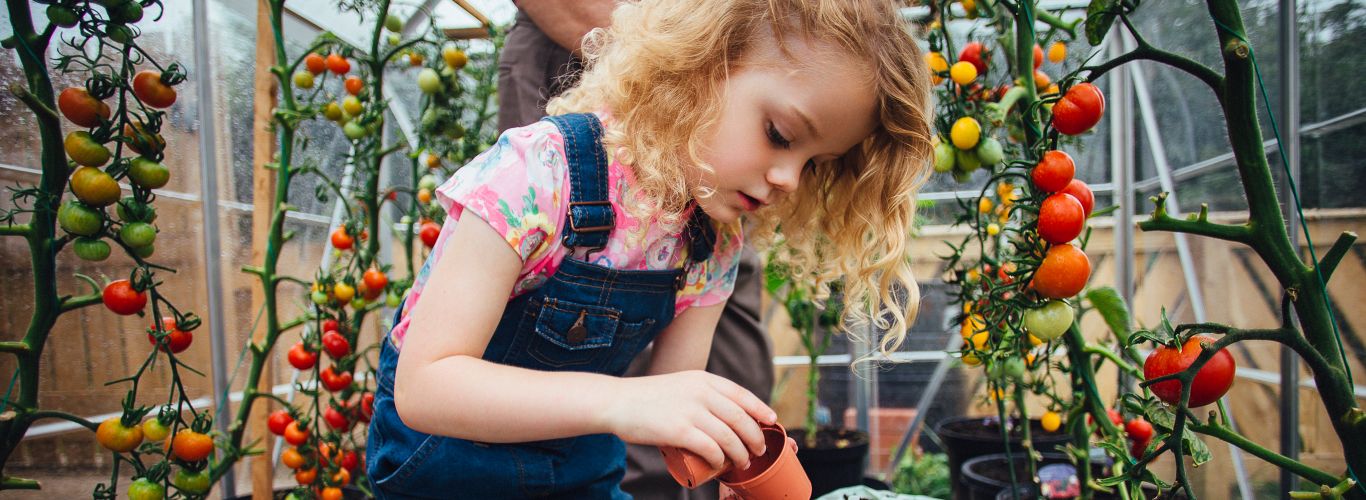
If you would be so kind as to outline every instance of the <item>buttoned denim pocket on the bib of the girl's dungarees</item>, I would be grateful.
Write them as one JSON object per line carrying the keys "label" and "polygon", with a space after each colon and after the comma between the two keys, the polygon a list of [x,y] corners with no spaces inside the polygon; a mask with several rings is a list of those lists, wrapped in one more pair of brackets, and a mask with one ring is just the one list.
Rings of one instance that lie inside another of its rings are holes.
{"label": "buttoned denim pocket on the bib of the girl's dungarees", "polygon": [[601,369],[613,350],[622,311],[546,298],[527,352],[549,369]]}

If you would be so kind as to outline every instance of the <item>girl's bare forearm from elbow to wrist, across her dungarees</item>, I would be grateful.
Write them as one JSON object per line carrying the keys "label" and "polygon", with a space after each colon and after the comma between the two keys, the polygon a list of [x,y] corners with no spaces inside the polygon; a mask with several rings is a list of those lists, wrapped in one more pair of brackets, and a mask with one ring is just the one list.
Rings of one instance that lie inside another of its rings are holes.
{"label": "girl's bare forearm from elbow to wrist, across her dungarees", "polygon": [[[400,369],[406,367],[400,365]],[[611,433],[604,410],[622,378],[538,372],[456,355],[396,374],[395,407],[414,430],[479,443]]]}

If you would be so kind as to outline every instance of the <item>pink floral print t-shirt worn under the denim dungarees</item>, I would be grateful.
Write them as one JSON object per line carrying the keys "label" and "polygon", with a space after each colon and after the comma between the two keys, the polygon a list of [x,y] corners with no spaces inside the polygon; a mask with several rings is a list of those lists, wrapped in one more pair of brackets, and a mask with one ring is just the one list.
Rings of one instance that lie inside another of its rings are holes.
{"label": "pink floral print t-shirt worn under the denim dungarees", "polygon": [[[402,347],[410,322],[408,311],[421,299],[432,268],[455,232],[455,223],[464,214],[488,221],[522,257],[522,272],[508,299],[535,290],[555,275],[570,254],[561,239],[561,231],[568,231],[568,167],[564,135],[553,123],[537,122],[503,133],[493,148],[437,187],[436,199],[448,216],[432,254],[408,291],[402,318],[389,333],[395,347]],[[589,255],[589,262],[623,270],[682,268],[688,257],[686,228],[679,225],[669,231],[663,224],[632,217],[623,206],[623,195],[631,193],[634,182],[630,167],[609,158],[608,199],[616,225],[608,235],[607,247]],[[740,227],[738,223],[713,224],[717,224],[716,249],[706,261],[688,266],[687,283],[678,292],[675,316],[691,306],[725,302],[735,288]]]}

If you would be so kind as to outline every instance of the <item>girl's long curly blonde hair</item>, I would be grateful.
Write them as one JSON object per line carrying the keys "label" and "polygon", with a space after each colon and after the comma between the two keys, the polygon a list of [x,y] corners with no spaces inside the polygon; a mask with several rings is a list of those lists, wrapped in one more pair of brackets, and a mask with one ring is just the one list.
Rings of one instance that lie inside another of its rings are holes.
{"label": "girl's long curly blonde hair", "polygon": [[[693,199],[729,71],[759,37],[832,42],[873,71],[877,126],[843,157],[805,169],[798,191],[749,217],[795,279],[824,296],[843,281],[848,320],[873,321],[896,350],[919,305],[911,275],[915,193],[929,172],[929,72],[892,0],[642,0],[583,42],[586,70],[552,115],[607,111],[604,143],[637,178],[632,213],[676,224]],[[839,75],[832,75],[839,78]],[[781,228],[779,227],[781,223]]]}

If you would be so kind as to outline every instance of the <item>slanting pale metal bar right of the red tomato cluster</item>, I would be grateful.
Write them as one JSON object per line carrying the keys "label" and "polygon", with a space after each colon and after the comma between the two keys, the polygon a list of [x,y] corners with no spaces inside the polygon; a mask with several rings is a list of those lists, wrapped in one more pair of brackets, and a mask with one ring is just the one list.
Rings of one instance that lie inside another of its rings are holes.
{"label": "slanting pale metal bar right of the red tomato cluster", "polygon": [[[1128,38],[1127,34],[1126,38]],[[1127,41],[1126,44],[1128,42],[1132,41]],[[1167,164],[1167,150],[1162,145],[1162,135],[1157,130],[1157,115],[1153,113],[1153,101],[1152,96],[1147,93],[1147,79],[1143,75],[1143,67],[1141,64],[1128,64],[1128,71],[1132,75],[1130,81],[1134,85],[1134,97],[1138,101],[1139,117],[1143,122],[1143,134],[1147,135],[1147,146],[1149,152],[1153,154],[1153,165],[1157,167],[1157,179],[1161,182],[1162,191],[1167,191],[1167,212],[1173,217],[1179,217],[1180,206],[1176,202],[1176,186],[1172,182],[1171,167]],[[1197,322],[1205,322],[1205,298],[1201,292],[1199,277],[1195,275],[1195,264],[1191,260],[1186,234],[1172,232],[1172,238],[1176,240],[1176,255],[1182,262],[1182,273],[1186,277],[1186,292],[1190,295],[1191,311],[1195,314]],[[1229,422],[1235,422],[1232,411],[1229,411],[1228,419]],[[1247,478],[1247,467],[1243,466],[1242,451],[1229,444],[1228,454],[1233,462],[1233,473],[1238,480],[1238,490],[1240,496],[1243,500],[1253,500],[1251,481]]]}

